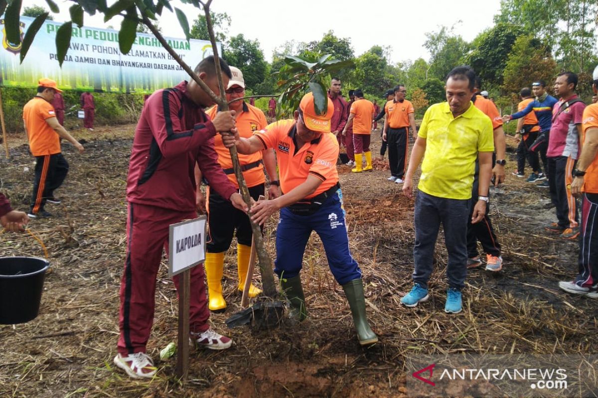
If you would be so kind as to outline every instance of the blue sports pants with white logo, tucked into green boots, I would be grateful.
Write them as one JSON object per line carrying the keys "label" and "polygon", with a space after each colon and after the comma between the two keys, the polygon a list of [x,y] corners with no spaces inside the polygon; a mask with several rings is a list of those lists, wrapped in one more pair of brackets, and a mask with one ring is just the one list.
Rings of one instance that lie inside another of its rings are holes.
{"label": "blue sports pants with white logo, tucked into green boots", "polygon": [[361,270],[349,251],[349,236],[344,220],[343,193],[340,189],[311,215],[297,215],[288,208],[280,210],[276,230],[274,272],[283,278],[295,277],[303,267],[307,240],[315,231],[324,243],[328,266],[340,285],[361,279]]}

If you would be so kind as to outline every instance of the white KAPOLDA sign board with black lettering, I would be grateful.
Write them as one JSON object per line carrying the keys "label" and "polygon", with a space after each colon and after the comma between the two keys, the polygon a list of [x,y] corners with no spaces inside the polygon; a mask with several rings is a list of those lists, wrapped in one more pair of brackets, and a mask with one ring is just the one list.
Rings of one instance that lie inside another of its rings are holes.
{"label": "white KAPOLDA sign board with black lettering", "polygon": [[168,276],[206,260],[206,216],[170,225]]}

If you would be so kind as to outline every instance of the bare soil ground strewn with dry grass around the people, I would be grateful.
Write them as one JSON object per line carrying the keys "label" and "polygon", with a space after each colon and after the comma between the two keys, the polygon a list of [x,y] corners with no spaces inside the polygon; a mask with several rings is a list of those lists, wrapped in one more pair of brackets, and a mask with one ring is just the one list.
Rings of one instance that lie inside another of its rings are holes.
{"label": "bare soil ground strewn with dry grass around the people", "polygon": [[[413,202],[376,170],[353,174],[339,166],[350,246],[364,273],[368,314],[380,343],[359,347],[349,307],[328,270],[316,235],[304,257],[310,319],[270,331],[227,329],[239,310],[236,253],[224,277],[225,313],[215,329],[235,344],[223,352],[191,354],[190,378],[179,384],[175,359],[158,351],[176,340],[176,291],[161,267],[148,353],[160,368],[151,381],[115,371],[118,289],[125,254],[127,164],[134,126],[99,128],[78,155],[63,145],[71,171],[48,206],[56,217],[31,228],[48,246],[53,273],[45,280],[39,316],[0,325],[1,397],[403,397],[404,361],[422,353],[596,353],[596,302],[557,288],[576,272],[577,245],[545,234],[554,219],[548,192],[511,175],[493,192],[492,218],[504,248],[504,270],[468,274],[463,313],[445,314],[446,251],[438,240],[431,300],[411,309],[399,300],[411,288]],[[0,158],[0,191],[17,209],[28,206],[33,158],[23,137],[9,137],[11,158]],[[379,134],[373,134],[377,154]],[[510,143],[513,144],[513,143]],[[512,159],[514,160],[514,159]],[[166,189],[167,187],[165,187]],[[266,228],[274,254],[276,220]],[[42,255],[28,235],[0,236],[1,255]],[[257,278],[259,279],[259,277]]]}

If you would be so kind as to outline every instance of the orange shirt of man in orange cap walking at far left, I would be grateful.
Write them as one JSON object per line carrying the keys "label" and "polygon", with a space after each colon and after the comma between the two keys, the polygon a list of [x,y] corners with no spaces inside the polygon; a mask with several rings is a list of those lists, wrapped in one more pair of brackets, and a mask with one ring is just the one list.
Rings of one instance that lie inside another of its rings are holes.
{"label": "orange shirt of man in orange cap walking at far left", "polygon": [[23,107],[23,120],[29,134],[29,149],[33,156],[60,153],[60,137],[45,120],[56,118],[54,107],[42,97],[33,97]]}

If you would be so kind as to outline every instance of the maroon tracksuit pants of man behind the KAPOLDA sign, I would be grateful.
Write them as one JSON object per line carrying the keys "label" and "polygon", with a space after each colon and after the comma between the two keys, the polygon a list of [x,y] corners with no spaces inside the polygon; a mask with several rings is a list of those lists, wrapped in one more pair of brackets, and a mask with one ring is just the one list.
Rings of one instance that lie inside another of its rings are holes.
{"label": "maroon tracksuit pants of man behind the KAPOLDA sign", "polygon": [[[196,218],[196,212],[177,212],[129,202],[127,216],[127,259],[120,286],[118,352],[145,352],[154,322],[155,282],[162,258],[168,252],[169,225]],[[179,288],[179,278],[173,278]],[[203,264],[191,269],[190,317],[191,332],[209,329]]]}

